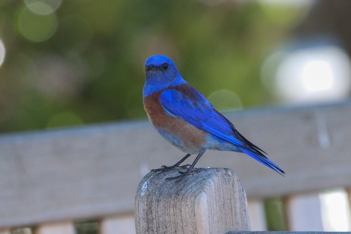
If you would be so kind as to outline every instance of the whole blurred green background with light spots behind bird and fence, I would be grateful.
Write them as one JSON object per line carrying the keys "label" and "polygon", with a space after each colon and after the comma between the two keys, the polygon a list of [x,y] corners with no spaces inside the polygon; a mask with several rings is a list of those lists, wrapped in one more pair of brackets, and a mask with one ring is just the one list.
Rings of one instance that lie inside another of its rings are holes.
{"label": "whole blurred green background with light spots behind bird and fence", "polygon": [[[347,99],[350,12],[349,0],[1,0],[0,132],[146,118],[155,54],[219,110]],[[346,198],[330,194],[323,209]],[[341,213],[325,230],[350,230]]]}

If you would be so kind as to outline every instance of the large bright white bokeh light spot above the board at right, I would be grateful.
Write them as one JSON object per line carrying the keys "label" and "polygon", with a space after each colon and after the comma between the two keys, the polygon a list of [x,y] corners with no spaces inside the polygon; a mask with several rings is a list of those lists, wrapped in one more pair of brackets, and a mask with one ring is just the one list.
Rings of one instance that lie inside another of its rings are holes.
{"label": "large bright white bokeh light spot above the board at right", "polygon": [[351,60],[335,45],[277,52],[265,61],[261,76],[287,102],[337,101],[351,91]]}

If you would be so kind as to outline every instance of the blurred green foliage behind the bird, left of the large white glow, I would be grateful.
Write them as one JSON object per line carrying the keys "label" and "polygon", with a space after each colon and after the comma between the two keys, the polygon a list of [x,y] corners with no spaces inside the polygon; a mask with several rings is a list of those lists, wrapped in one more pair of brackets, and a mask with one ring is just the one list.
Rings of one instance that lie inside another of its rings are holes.
{"label": "blurred green foliage behind the bird, left of the large white glow", "polygon": [[226,89],[244,107],[274,103],[260,67],[303,12],[257,1],[72,0],[40,15],[3,0],[0,132],[145,117],[144,63],[154,54],[206,97]]}

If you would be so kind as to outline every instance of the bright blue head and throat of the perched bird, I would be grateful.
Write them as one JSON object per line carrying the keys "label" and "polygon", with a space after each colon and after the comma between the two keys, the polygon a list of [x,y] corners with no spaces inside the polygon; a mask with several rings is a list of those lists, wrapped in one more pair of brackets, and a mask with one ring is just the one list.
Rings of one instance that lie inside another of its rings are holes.
{"label": "bright blue head and throat of the perched bird", "polygon": [[143,98],[164,88],[185,83],[174,62],[166,56],[151,56],[146,60],[145,69]]}

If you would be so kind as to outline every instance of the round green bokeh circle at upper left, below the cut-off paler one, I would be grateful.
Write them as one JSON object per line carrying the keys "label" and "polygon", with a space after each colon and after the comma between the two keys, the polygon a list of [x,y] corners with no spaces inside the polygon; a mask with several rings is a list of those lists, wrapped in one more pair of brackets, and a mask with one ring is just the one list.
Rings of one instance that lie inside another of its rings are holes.
{"label": "round green bokeh circle at upper left, below the cut-off paler one", "polygon": [[37,15],[23,8],[18,17],[18,30],[28,40],[34,42],[45,41],[56,30],[57,17],[54,13]]}

